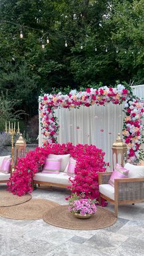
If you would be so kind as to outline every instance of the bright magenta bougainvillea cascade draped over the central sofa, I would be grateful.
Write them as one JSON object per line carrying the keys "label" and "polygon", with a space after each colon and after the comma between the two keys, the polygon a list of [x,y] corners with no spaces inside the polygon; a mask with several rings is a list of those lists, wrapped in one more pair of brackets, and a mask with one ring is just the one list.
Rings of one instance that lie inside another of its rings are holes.
{"label": "bright magenta bougainvillea cascade draped over the central sofa", "polygon": [[85,197],[90,199],[99,199],[98,172],[106,171],[104,162],[105,153],[95,145],[74,146],[67,144],[52,144],[45,148],[35,148],[35,151],[27,153],[25,158],[18,161],[12,178],[7,183],[9,190],[13,194],[23,196],[27,192],[32,192],[32,178],[38,169],[45,163],[46,157],[50,154],[65,155],[70,154],[76,159],[76,168],[73,180],[71,180],[70,189],[72,192],[85,193]]}

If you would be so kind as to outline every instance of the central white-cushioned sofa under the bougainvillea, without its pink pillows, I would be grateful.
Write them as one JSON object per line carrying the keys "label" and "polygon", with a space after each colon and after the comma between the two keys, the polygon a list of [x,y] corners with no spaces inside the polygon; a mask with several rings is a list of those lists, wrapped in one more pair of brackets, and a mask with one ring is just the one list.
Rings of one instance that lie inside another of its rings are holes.
{"label": "central white-cushioned sofa under the bougainvillea, without its pink pillows", "polygon": [[[56,157],[56,155],[49,155],[49,157]],[[62,155],[58,156],[62,158],[61,167],[59,174],[44,174],[42,172],[38,172],[34,175],[33,183],[40,185],[48,185],[55,186],[59,188],[67,188],[67,186],[71,185],[69,180],[70,176],[67,175],[68,163],[70,160],[70,155]],[[71,177],[73,179],[73,177]]]}

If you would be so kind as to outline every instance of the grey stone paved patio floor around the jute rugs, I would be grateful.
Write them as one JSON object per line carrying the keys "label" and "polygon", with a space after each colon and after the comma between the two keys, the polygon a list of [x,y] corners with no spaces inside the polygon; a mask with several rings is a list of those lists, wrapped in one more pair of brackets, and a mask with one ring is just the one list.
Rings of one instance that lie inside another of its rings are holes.
{"label": "grey stone paved patio floor around the jute rugs", "polygon": [[[6,188],[0,186],[1,189]],[[33,198],[67,204],[64,189],[40,188]],[[113,211],[113,206],[107,208]],[[65,221],[65,220],[63,220]],[[0,217],[0,255],[144,255],[144,203],[119,207],[117,222],[101,230],[68,230],[36,221]]]}

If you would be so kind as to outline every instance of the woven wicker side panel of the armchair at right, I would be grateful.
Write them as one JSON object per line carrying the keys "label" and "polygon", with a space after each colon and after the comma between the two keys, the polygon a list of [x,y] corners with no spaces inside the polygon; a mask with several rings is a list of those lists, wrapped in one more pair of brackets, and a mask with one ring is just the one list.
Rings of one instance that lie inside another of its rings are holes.
{"label": "woven wicker side panel of the armchair at right", "polygon": [[144,177],[115,179],[114,187],[118,201],[144,199]]}

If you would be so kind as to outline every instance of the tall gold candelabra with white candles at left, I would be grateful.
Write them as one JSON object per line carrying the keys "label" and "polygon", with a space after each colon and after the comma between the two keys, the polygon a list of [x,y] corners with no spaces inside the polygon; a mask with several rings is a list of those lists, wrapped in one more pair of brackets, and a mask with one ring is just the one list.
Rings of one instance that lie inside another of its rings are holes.
{"label": "tall gold candelabra with white candles at left", "polygon": [[15,128],[15,122],[9,122],[9,128],[7,128],[7,122],[5,122],[5,133],[11,135],[11,144],[12,144],[12,168],[14,168],[14,136],[15,134],[20,134],[20,127],[18,122],[18,129]]}

